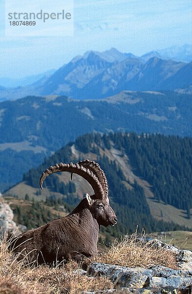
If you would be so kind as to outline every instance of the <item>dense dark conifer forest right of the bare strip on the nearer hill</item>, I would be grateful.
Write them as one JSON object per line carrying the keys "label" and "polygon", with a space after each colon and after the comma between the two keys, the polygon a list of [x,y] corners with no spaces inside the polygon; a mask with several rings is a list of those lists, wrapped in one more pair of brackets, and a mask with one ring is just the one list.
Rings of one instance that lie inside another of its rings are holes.
{"label": "dense dark conifer forest right of the bare strip on the nearer hill", "polygon": [[142,134],[118,142],[139,176],[152,185],[156,199],[192,208],[192,138]]}

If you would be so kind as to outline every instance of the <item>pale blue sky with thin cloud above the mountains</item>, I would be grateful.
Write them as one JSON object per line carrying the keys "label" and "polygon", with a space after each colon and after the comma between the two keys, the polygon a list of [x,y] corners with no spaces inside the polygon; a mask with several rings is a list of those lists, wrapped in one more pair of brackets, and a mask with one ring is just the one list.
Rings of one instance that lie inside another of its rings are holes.
{"label": "pale blue sky with thin cloud above the mountains", "polygon": [[115,47],[141,55],[191,44],[191,0],[74,0],[72,37],[5,37],[3,2],[0,0],[0,77],[57,69],[87,50]]}

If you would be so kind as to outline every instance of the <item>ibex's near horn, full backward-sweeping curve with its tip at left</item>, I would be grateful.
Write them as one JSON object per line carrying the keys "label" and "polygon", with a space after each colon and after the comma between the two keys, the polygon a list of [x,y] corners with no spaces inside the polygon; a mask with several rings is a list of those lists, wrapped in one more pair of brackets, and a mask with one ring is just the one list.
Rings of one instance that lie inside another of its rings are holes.
{"label": "ibex's near horn, full backward-sweeping curve with its tip at left", "polygon": [[73,164],[72,162],[70,164],[56,164],[55,166],[50,166],[49,169],[46,169],[45,172],[42,173],[42,176],[40,178],[40,187],[43,190],[43,181],[44,179],[51,173],[54,172],[72,172],[77,173],[81,175],[87,182],[91,185],[91,187],[94,190],[95,198],[101,199],[105,197],[105,193],[102,187],[102,184],[100,183],[99,179],[93,172],[91,172],[89,169],[84,168],[83,166],[80,166],[78,163]]}

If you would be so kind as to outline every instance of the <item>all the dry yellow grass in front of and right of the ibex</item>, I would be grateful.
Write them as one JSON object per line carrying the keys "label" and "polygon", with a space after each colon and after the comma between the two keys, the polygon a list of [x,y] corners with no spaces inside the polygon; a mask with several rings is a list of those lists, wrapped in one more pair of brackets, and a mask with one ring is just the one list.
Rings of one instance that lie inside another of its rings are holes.
{"label": "all the dry yellow grass in front of and right of the ibex", "polygon": [[[144,236],[142,236],[143,239]],[[74,261],[55,267],[26,266],[27,258],[17,261],[7,249],[4,238],[0,245],[0,294],[80,294],[83,291],[112,289],[106,277],[81,274],[81,265]],[[153,265],[176,268],[175,256],[163,248],[156,249],[137,239],[137,234],[115,241],[110,249],[97,257],[86,259],[85,264],[102,262],[126,267]]]}

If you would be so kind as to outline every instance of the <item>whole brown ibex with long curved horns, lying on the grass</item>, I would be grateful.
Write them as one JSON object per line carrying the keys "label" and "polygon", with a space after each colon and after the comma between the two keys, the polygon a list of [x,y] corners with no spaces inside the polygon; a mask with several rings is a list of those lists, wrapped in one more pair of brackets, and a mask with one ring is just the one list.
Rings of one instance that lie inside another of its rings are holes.
{"label": "whole brown ibex with long curved horns, lying on the grass", "polygon": [[54,172],[71,172],[81,175],[92,186],[94,195],[86,194],[79,205],[66,217],[22,233],[12,241],[15,253],[28,253],[30,260],[41,263],[67,260],[77,261],[97,254],[100,225],[117,223],[117,217],[109,205],[107,178],[98,163],[79,161],[76,164],[56,164],[46,169],[40,178]]}

